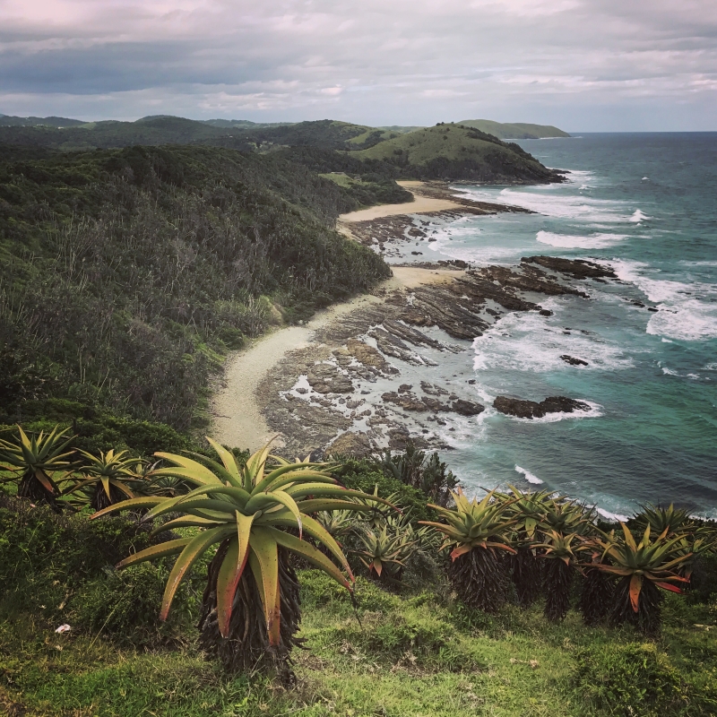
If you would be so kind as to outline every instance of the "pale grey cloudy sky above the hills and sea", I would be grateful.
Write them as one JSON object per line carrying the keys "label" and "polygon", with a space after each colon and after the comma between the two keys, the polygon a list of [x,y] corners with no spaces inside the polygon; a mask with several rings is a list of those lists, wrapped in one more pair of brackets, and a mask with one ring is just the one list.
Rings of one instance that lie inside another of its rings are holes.
{"label": "pale grey cloudy sky above the hills and sea", "polygon": [[717,130],[717,2],[0,0],[0,112]]}

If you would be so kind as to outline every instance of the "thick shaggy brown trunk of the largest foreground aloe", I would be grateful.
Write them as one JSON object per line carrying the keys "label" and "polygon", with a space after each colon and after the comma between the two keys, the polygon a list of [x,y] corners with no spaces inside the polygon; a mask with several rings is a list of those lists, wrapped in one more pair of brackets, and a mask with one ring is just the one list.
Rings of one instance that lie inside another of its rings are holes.
{"label": "thick shaggy brown trunk of the largest foreground aloe", "polygon": [[301,620],[297,575],[289,552],[279,549],[279,589],[281,594],[281,632],[279,644],[270,642],[263,618],[262,598],[254,574],[245,570],[232,602],[229,634],[222,637],[217,615],[217,577],[229,549],[225,540],[209,566],[199,619],[199,642],[205,652],[217,657],[231,673],[251,673],[255,669],[275,669],[285,685],[294,681],[290,652],[304,641],[296,637]]}

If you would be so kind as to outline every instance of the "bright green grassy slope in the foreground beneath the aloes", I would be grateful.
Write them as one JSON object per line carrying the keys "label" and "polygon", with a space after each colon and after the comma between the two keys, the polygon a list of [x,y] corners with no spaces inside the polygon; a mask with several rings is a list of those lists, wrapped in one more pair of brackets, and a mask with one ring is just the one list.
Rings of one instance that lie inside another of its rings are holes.
{"label": "bright green grassy slope in the foreground beneath the aloes", "polygon": [[585,628],[574,612],[549,625],[540,606],[469,613],[442,585],[401,597],[359,579],[354,612],[324,574],[299,575],[310,649],[295,654],[288,691],[222,675],[197,655],[191,632],[179,647],[143,652],[96,633],[55,635],[54,622],[25,617],[0,627],[0,704],[48,717],[692,716],[717,704],[713,635],[690,622],[714,619],[714,606],[670,596],[652,644],[628,629]]}

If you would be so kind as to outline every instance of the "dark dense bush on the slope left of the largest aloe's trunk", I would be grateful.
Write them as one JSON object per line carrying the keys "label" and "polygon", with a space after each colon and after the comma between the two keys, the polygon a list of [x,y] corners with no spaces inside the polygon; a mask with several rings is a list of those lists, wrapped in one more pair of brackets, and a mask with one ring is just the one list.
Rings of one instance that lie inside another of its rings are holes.
{"label": "dark dense bush on the slope left of the largest aloe's trunk", "polygon": [[127,518],[91,522],[85,514],[57,515],[2,497],[0,616],[34,613],[53,625],[67,622],[75,633],[101,632],[126,644],[176,638],[195,619],[203,584],[186,583],[162,625],[157,616],[166,567],[143,565],[122,573],[113,567],[155,542],[148,528]]}

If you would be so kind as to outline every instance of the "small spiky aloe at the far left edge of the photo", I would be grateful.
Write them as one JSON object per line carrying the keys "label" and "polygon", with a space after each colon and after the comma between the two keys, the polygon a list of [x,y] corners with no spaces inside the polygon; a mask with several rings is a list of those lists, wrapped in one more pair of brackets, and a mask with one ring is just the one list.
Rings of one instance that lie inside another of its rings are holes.
{"label": "small spiky aloe at the far left edge of the photo", "polygon": [[[74,436],[68,436],[59,426],[48,434],[40,431],[37,436],[27,436],[18,426],[17,441],[0,440],[0,461],[7,471],[16,474],[13,480],[18,482],[17,495],[29,498],[33,503],[47,503],[56,512],[63,505],[60,497],[59,482],[66,478],[74,463],[70,461],[73,451],[66,449],[72,444]],[[59,479],[56,474],[63,472]]]}

